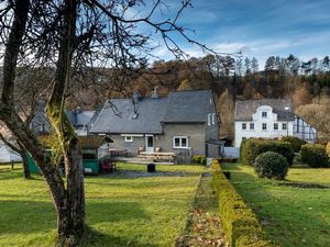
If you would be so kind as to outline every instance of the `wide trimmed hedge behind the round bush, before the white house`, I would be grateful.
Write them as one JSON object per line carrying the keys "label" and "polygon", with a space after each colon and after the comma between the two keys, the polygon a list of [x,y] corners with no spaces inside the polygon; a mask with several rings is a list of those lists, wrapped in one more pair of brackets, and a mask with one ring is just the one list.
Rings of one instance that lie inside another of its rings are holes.
{"label": "wide trimmed hedge behind the round bush, before the white house", "polygon": [[294,164],[295,153],[292,144],[274,139],[250,138],[241,145],[241,160],[243,165],[253,166],[256,157],[265,151],[283,155],[289,165]]}

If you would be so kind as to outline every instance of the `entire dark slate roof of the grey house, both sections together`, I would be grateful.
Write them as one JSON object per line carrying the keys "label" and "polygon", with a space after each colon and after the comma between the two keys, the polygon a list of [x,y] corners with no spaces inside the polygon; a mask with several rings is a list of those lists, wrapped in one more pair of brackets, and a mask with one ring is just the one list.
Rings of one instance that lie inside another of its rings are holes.
{"label": "entire dark slate roof of the grey house, both sections together", "polygon": [[[111,106],[113,105],[113,106]],[[134,119],[132,99],[107,101],[90,133],[160,134],[162,123],[205,123],[213,113],[211,90],[170,92],[168,98],[142,98]]]}

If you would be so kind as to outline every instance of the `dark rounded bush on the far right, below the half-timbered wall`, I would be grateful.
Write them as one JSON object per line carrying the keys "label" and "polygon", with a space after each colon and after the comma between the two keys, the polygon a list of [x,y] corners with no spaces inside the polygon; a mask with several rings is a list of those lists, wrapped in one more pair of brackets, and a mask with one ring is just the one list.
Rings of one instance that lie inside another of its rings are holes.
{"label": "dark rounded bush on the far right, below the half-timbered wall", "polygon": [[300,158],[302,162],[314,168],[329,167],[329,157],[326,147],[320,144],[305,144],[301,146]]}

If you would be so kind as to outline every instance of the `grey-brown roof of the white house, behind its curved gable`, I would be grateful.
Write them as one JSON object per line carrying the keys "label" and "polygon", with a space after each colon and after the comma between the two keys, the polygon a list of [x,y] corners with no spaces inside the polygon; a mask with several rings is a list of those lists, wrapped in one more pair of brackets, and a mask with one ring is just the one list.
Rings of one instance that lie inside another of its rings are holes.
{"label": "grey-brown roof of the white house, behind its curved gable", "polygon": [[[256,112],[256,109],[261,105],[268,105],[273,109],[273,112],[277,114],[279,121],[294,121],[294,105],[288,99],[262,99],[262,100],[244,100],[237,101],[234,120],[237,121],[251,121],[252,114]],[[285,108],[289,106],[290,111],[285,111]]]}

